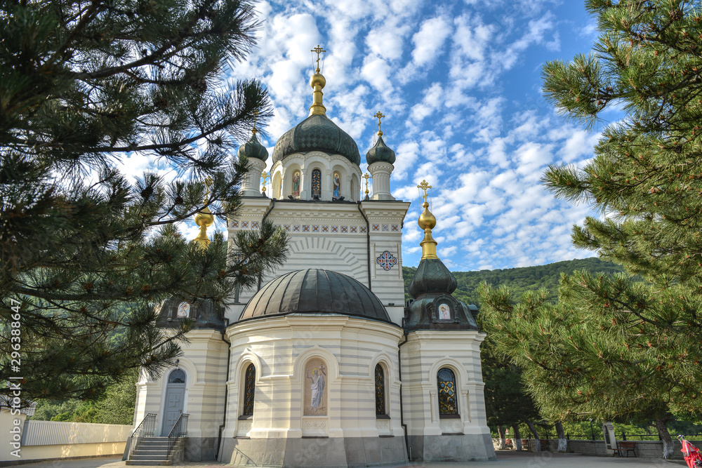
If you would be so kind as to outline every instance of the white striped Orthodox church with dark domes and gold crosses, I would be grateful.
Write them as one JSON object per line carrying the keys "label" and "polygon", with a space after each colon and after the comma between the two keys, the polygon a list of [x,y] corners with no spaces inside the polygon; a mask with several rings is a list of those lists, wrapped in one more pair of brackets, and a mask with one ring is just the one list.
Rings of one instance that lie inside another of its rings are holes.
{"label": "white striped Orthodox church with dark domes and gold crosses", "polygon": [[[315,50],[317,51],[317,50]],[[319,49],[321,51],[321,49]],[[319,52],[318,51],[318,52]],[[177,368],[138,382],[135,423],[151,414],[167,436],[188,415],[185,460],[266,467],[361,467],[494,460],[486,425],[475,306],[454,298],[437,257],[425,182],[422,259],[405,302],[402,228],[393,198],[395,152],[366,152],[362,199],[356,142],[326,116],[319,59],[310,116],[272,154],[270,196],[259,189],[268,152],[253,131],[239,148],[251,171],[230,239],[264,220],[289,236],[289,255],[237,303],[166,301],[159,324],[196,326]],[[376,114],[381,117],[382,114]],[[200,213],[204,243],[212,215]]]}

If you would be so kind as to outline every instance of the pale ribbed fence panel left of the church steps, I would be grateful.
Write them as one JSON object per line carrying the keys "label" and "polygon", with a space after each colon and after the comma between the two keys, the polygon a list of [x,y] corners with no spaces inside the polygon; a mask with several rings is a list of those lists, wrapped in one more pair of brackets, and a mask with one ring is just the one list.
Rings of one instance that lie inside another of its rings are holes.
{"label": "pale ribbed fence panel left of the church steps", "polygon": [[22,446],[125,442],[131,430],[131,425],[121,424],[27,421],[22,431]]}

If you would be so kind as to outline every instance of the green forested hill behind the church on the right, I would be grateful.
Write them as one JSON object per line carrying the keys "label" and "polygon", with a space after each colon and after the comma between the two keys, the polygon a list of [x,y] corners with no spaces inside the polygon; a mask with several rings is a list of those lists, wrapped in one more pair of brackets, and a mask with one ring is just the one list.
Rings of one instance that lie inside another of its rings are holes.
{"label": "green forested hill behind the church on the right", "polygon": [[[479,272],[453,272],[453,276],[456,276],[456,281],[458,281],[458,288],[456,288],[456,292],[453,293],[453,296],[466,304],[475,304],[480,307],[476,290],[482,281],[485,281],[491,286],[501,286],[503,284],[510,286],[510,288],[515,290],[517,296],[521,295],[525,290],[536,290],[538,288],[547,288],[555,295],[558,290],[558,281],[561,277],[561,273],[570,274],[581,269],[590,270],[592,273],[623,272],[622,267],[619,265],[603,262],[599,258],[567,260],[565,262],[539,265],[538,267],[484,269]],[[416,267],[402,268],[405,299],[409,299],[407,286],[409,286],[410,281],[412,281],[416,270]]]}

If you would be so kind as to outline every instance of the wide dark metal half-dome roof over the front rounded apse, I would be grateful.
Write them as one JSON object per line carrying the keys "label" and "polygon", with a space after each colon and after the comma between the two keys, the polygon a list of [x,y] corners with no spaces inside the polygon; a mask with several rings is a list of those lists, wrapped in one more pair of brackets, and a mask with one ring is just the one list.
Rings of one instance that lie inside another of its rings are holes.
{"label": "wide dark metal half-dome roof over the front rounded apse", "polygon": [[300,269],[272,279],[251,297],[239,321],[320,312],[390,322],[385,307],[369,288],[326,269]]}

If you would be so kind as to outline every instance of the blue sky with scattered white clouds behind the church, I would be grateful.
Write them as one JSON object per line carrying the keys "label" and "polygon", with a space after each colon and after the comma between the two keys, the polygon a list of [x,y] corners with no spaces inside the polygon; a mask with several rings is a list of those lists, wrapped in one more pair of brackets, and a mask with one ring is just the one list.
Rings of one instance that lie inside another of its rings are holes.
{"label": "blue sky with scattered white clouds behind the church", "polygon": [[257,9],[258,46],[230,74],[268,88],[275,116],[263,143],[272,153],[307,116],[310,49],[321,44],[327,115],[355,138],[364,172],[373,114],[386,115],[383,139],[397,153],[392,193],[412,202],[405,266],[420,259],[423,179],[433,187],[434,235],[449,269],[593,255],[570,241],[588,207],[557,201],[539,182],[550,163],[583,165],[599,138],[557,116],[541,93],[546,60],[570,60],[596,39],[582,0],[262,1]]}

